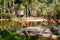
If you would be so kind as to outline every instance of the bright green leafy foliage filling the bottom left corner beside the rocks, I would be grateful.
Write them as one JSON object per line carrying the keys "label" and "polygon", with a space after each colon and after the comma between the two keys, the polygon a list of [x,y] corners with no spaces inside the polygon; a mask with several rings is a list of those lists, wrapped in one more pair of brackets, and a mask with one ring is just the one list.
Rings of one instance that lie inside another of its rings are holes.
{"label": "bright green leafy foliage filling the bottom left corner beside the rocks", "polygon": [[19,34],[15,34],[13,30],[1,30],[0,31],[0,40],[26,40],[26,36],[20,36]]}

